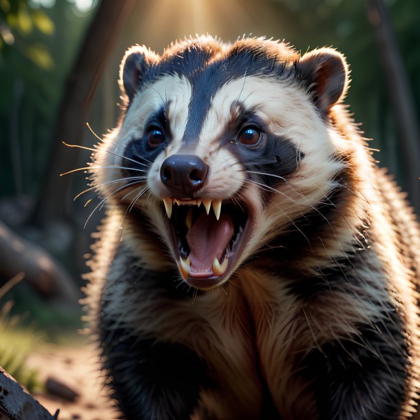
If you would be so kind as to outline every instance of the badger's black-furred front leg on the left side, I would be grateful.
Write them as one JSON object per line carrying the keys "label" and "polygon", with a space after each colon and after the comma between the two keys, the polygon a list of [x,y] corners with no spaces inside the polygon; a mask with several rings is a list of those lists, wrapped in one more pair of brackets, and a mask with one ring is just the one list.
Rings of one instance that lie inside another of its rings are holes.
{"label": "badger's black-furred front leg on the left side", "polygon": [[198,405],[204,362],[185,346],[102,330],[103,366],[124,419],[189,419]]}

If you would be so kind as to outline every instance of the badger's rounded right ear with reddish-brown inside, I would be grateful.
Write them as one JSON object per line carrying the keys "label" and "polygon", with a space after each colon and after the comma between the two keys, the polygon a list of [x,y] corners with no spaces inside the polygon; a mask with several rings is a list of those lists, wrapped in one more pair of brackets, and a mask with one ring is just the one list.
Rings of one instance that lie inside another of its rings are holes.
{"label": "badger's rounded right ear with reddish-brown inside", "polygon": [[331,107],[346,94],[346,59],[332,48],[319,48],[304,54],[297,62],[297,70],[312,92],[320,114],[326,117]]}

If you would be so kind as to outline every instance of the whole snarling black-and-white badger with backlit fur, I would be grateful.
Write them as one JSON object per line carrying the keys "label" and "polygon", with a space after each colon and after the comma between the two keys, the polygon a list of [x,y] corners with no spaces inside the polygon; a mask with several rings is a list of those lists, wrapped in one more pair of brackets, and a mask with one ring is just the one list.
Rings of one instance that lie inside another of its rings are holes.
{"label": "whole snarling black-and-white badger with backlit fur", "polygon": [[124,419],[406,419],[420,234],[346,59],[211,36],[120,65],[87,321]]}

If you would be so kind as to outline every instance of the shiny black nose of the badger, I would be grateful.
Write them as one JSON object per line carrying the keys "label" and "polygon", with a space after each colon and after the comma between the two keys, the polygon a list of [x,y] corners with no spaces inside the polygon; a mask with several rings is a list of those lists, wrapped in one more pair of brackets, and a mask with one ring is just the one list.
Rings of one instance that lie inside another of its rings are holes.
{"label": "shiny black nose of the badger", "polygon": [[195,155],[172,155],[160,166],[160,179],[174,198],[193,198],[208,174],[209,166]]}

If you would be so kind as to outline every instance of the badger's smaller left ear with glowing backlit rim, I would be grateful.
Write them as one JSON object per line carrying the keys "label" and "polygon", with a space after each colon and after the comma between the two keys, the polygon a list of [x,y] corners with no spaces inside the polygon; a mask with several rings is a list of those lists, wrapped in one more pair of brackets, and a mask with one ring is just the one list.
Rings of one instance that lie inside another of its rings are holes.
{"label": "badger's smaller left ear with glowing backlit rim", "polygon": [[135,45],[125,52],[120,65],[119,85],[121,92],[127,95],[129,103],[140,89],[147,67],[158,61],[158,54],[145,46]]}

